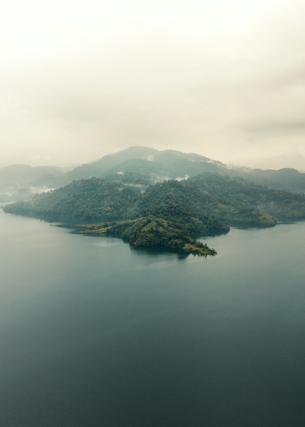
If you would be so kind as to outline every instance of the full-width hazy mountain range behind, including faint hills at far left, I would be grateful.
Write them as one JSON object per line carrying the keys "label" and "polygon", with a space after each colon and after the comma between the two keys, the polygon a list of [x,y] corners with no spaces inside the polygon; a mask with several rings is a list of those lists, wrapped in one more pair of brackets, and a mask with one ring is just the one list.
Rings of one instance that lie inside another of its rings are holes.
{"label": "full-width hazy mountain range behind, including faint hills at far left", "polygon": [[275,190],[305,193],[305,173],[296,169],[252,169],[229,166],[196,153],[134,146],[82,164],[64,173],[57,167],[12,165],[0,169],[0,201],[21,200],[34,193],[55,189],[79,179],[105,178],[145,190],[168,179],[182,180],[203,172],[239,176]]}

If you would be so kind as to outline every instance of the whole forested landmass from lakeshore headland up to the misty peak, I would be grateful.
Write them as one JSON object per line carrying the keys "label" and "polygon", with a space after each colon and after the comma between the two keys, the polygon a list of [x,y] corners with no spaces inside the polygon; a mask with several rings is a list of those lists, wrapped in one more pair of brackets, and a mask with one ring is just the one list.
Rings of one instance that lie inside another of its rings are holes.
{"label": "whole forested landmass from lakeshore headland up to the misty peak", "polygon": [[[144,147],[140,148],[145,152]],[[91,224],[86,233],[114,234],[135,246],[162,246],[201,254],[216,251],[195,240],[196,236],[226,233],[230,226],[273,227],[276,219],[305,218],[304,194],[257,184],[253,179],[232,176],[232,171],[224,175],[220,162],[208,163],[208,158],[170,150],[154,150],[156,161],[153,157],[126,160],[127,151],[105,156],[109,164],[104,178],[73,180],[2,208],[53,221],[69,217],[81,222],[95,219],[97,225]],[[107,165],[105,158],[100,164]],[[192,169],[209,171],[188,177]],[[215,173],[215,169],[222,173]],[[85,175],[88,170],[92,167],[83,165],[73,173],[82,171]],[[160,171],[174,175],[177,170],[185,173],[184,177],[155,177]]]}

